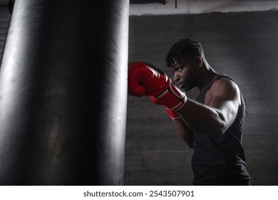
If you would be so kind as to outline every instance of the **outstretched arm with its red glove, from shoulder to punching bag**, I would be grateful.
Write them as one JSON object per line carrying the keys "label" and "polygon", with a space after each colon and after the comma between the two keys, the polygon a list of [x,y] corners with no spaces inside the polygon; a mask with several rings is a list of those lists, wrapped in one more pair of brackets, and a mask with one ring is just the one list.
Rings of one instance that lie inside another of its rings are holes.
{"label": "outstretched arm with its red glove, from shoulder to punching bag", "polygon": [[215,137],[231,126],[240,106],[240,90],[230,79],[215,81],[204,105],[187,99],[163,71],[145,62],[128,64],[128,94],[155,96],[160,104],[177,111],[188,128]]}

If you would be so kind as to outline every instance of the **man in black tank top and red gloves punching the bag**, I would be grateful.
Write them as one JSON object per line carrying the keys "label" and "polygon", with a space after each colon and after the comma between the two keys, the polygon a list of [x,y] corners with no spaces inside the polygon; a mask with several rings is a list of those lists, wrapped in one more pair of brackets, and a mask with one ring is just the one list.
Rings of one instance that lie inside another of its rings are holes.
{"label": "man in black tank top and red gloves punching the bag", "polygon": [[[155,66],[130,63],[129,94],[150,96],[166,107],[178,133],[194,149],[193,184],[250,185],[241,144],[245,105],[237,84],[212,69],[195,39],[177,41],[166,64],[175,84]],[[194,87],[200,91],[196,101],[184,92]]]}

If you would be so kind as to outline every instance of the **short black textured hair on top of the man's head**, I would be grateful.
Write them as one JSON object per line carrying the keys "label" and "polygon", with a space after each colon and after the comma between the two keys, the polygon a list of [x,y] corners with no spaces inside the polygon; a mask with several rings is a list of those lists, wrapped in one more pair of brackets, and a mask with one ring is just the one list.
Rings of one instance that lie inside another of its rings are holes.
{"label": "short black textured hair on top of the man's head", "polygon": [[187,59],[193,59],[196,56],[204,57],[204,49],[199,41],[195,39],[180,39],[177,41],[168,51],[166,56],[166,65],[168,67],[173,66],[173,64],[181,63],[182,59],[186,57]]}

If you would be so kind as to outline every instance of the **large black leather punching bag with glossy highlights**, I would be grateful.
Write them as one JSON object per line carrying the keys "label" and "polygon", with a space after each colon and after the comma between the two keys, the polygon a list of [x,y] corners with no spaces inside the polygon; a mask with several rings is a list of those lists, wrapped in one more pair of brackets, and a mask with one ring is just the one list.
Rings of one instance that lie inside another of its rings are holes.
{"label": "large black leather punching bag with glossy highlights", "polygon": [[123,185],[128,0],[18,0],[0,71],[1,185]]}

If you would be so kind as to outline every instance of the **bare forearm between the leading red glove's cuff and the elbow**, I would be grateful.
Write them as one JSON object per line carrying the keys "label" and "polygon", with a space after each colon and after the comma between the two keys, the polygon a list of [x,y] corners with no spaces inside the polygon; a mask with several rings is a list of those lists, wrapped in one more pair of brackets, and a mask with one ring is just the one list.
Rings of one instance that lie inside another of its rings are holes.
{"label": "bare forearm between the leading red glove's cuff and the elbow", "polygon": [[194,131],[209,136],[221,136],[225,131],[225,122],[217,109],[187,99],[185,106],[177,111],[185,124]]}

